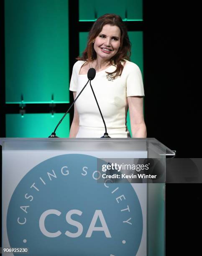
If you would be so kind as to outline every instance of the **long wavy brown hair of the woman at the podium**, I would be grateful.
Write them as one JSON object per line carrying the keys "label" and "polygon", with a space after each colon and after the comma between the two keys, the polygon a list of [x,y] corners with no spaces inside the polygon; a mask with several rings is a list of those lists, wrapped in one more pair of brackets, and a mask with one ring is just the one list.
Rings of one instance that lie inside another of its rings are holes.
{"label": "long wavy brown hair of the woman at the podium", "polygon": [[[97,59],[97,54],[94,50],[93,41],[95,41],[95,38],[99,35],[99,33],[102,31],[103,26],[105,26],[106,24],[110,24],[111,26],[118,26],[120,28],[120,48],[115,56],[110,59],[110,64],[116,66],[117,68],[112,73],[106,72],[107,74],[115,73],[115,77],[117,77],[118,75],[121,75],[123,71],[123,64],[125,64],[124,59],[130,61],[131,55],[131,43],[128,37],[127,28],[119,15],[107,13],[100,16],[100,18],[95,21],[91,30],[89,31],[87,47],[83,51],[82,56],[77,57],[76,59],[87,62]],[[121,63],[121,61],[123,61],[123,64]]]}

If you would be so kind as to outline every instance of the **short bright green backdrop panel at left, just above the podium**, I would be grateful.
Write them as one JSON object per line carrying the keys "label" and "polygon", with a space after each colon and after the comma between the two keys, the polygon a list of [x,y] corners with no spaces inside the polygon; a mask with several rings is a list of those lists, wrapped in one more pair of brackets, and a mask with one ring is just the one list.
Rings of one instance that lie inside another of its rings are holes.
{"label": "short bright green backdrop panel at left, just above the podium", "polygon": [[[48,138],[64,113],[50,114],[6,114],[6,137],[8,138]],[[69,114],[59,125],[56,135],[69,137]]]}

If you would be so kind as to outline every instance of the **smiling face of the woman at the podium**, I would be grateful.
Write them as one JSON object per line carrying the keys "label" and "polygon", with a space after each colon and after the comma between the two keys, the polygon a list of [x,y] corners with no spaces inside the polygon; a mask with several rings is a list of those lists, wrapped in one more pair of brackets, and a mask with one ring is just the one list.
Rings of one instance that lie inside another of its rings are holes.
{"label": "smiling face of the woman at the podium", "polygon": [[120,28],[107,24],[95,38],[94,49],[99,59],[111,59],[120,47]]}

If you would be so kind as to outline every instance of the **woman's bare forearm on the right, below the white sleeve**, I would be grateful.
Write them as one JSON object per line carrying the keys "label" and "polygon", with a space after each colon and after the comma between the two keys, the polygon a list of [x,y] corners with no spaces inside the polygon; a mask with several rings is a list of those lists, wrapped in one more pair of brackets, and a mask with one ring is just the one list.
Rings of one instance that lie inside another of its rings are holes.
{"label": "woman's bare forearm on the right, below the white sleeve", "polygon": [[130,112],[130,127],[133,138],[146,138],[147,131],[143,116],[143,97],[128,97],[128,108]]}

